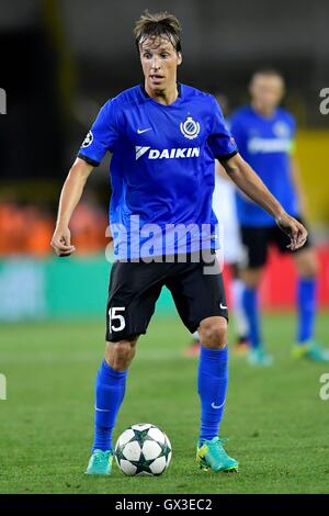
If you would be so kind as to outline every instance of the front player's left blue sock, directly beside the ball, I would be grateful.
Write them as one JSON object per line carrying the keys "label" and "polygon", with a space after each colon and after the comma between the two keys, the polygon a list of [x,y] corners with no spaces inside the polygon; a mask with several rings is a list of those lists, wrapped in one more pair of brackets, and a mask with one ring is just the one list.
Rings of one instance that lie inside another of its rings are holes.
{"label": "front player's left blue sock, directly beside the ball", "polygon": [[95,381],[94,442],[92,451],[112,449],[112,431],[124,399],[126,371],[114,371],[103,360]]}

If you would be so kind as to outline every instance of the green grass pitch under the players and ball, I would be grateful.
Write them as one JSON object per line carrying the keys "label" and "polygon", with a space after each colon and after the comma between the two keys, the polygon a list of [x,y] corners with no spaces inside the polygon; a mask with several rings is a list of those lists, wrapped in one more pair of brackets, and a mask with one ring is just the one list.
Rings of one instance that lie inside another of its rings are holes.
{"label": "green grass pitch under the players and ball", "polygon": [[[114,439],[134,423],[158,425],[171,439],[170,468],[127,478],[115,464],[110,478],[88,478],[103,322],[2,324],[0,493],[329,493],[329,401],[319,397],[329,363],[291,359],[292,315],[268,315],[264,329],[272,368],[230,357],[222,437],[239,474],[196,469],[196,359],[182,355],[190,337],[179,318],[156,316],[138,344]],[[325,314],[317,333],[329,343]]]}

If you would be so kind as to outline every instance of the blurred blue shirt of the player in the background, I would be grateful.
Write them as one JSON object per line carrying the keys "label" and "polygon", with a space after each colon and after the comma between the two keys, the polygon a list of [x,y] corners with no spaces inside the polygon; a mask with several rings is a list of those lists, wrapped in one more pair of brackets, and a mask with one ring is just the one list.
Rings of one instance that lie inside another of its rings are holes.
{"label": "blurred blue shirt of the player in the background", "polygon": [[[251,106],[237,110],[230,119],[230,131],[239,153],[256,170],[287,213],[298,215],[297,195],[291,175],[291,152],[295,137],[294,117],[277,108],[264,117]],[[238,220],[242,226],[273,226],[274,218],[258,204],[236,193]]]}

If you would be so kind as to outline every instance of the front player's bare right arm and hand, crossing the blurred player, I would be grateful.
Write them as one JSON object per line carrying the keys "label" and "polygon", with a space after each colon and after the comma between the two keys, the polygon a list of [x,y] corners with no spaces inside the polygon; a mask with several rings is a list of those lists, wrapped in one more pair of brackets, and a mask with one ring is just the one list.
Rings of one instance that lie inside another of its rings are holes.
{"label": "front player's bare right arm and hand, crossing the blurred player", "polygon": [[239,153],[224,161],[223,166],[237,187],[275,218],[279,227],[291,238],[287,246],[290,249],[296,250],[305,244],[307,238],[306,228],[285,212]]}

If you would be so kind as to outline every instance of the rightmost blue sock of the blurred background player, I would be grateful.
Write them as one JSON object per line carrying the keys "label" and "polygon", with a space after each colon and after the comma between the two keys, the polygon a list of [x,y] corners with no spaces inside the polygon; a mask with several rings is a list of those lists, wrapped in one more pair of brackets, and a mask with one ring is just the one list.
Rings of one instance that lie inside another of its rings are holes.
{"label": "rightmost blue sock of the blurred background player", "polygon": [[315,278],[299,278],[297,304],[297,343],[303,345],[314,336],[314,326],[317,313],[317,282]]}

